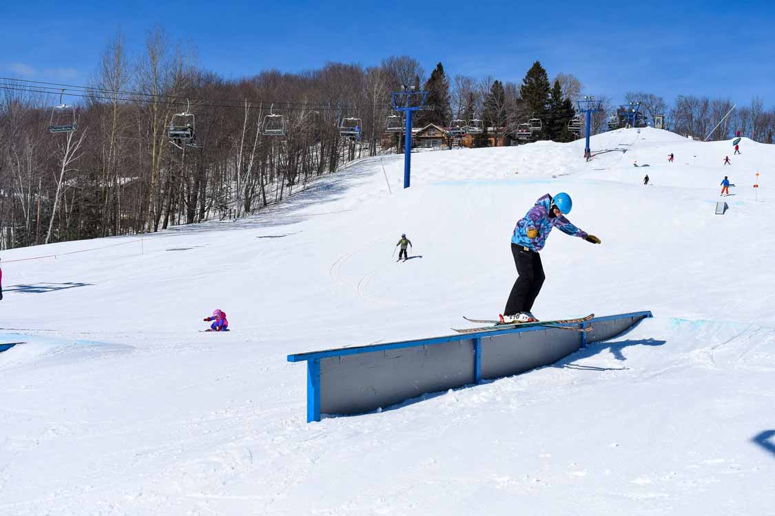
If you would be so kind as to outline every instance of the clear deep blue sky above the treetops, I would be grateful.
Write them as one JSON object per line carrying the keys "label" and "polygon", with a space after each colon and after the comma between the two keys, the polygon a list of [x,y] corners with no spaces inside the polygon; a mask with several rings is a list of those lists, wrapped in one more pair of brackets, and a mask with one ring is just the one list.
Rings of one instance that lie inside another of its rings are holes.
{"label": "clear deep blue sky above the treetops", "polygon": [[[532,3],[533,6],[527,4]],[[223,77],[408,54],[427,73],[522,80],[535,60],[590,94],[760,95],[775,105],[775,2],[29,2],[0,6],[0,77],[86,84],[118,29],[160,24]],[[626,4],[626,5],[625,5]],[[632,6],[631,6],[632,5]]]}

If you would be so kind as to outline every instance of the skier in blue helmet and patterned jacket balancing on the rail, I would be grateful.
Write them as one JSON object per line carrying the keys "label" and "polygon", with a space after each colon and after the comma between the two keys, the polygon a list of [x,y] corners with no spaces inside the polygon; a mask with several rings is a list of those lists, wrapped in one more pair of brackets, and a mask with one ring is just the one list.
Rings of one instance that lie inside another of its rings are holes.
{"label": "skier in blue helmet and patterned jacket balancing on the rail", "polygon": [[529,323],[536,320],[530,309],[546,279],[539,251],[546,244],[546,238],[553,227],[570,236],[584,238],[592,244],[600,244],[600,238],[581,231],[565,218],[571,207],[573,202],[567,193],[558,193],[554,197],[547,193],[536,200],[535,206],[517,222],[512,233],[512,255],[518,278],[500,316],[501,323]]}

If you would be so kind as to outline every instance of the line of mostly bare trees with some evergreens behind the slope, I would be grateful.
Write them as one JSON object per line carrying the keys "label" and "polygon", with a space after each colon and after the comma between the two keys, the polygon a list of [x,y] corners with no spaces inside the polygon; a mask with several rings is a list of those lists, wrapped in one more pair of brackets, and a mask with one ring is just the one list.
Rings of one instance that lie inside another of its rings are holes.
{"label": "line of mostly bare trees with some evergreens behind the slope", "polygon": [[[583,85],[567,73],[549,80],[537,61],[521,84],[450,80],[442,63],[426,78],[411,56],[226,80],[198,67],[195,49],[172,42],[160,27],[134,58],[117,34],[88,86],[64,91],[67,104],[77,104],[75,132],[47,131],[59,101],[51,87],[0,83],[0,249],[254,214],[347,162],[391,152],[398,145],[398,134],[384,137],[387,117],[396,114],[391,92],[405,87],[429,92],[415,127],[480,120],[474,146],[517,143],[518,126],[529,119],[542,122],[532,141],[580,136],[568,121]],[[608,97],[598,100],[604,109],[592,118],[593,134],[608,128],[617,108]],[[644,123],[664,114],[667,128],[702,138],[732,107],[729,99],[680,96],[669,109],[642,92],[625,94],[629,101],[640,103]],[[167,141],[167,125],[181,112],[195,115],[196,146]],[[267,115],[281,117],[284,135],[266,134]],[[356,137],[340,132],[345,119],[355,121]],[[775,111],[755,98],[711,138],[741,131],[771,143],[773,128]]]}

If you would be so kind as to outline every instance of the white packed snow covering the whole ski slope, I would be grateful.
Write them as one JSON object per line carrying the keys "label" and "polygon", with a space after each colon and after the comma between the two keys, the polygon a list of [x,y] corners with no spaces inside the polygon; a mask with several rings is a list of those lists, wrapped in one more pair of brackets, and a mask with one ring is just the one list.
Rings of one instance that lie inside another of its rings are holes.
{"label": "white packed snow covering the whole ski slope", "polygon": [[[0,354],[0,514],[775,514],[775,146],[591,146],[418,152],[408,190],[384,155],[255,217],[3,252],[0,343],[26,343]],[[602,244],[554,231],[533,313],[653,319],[305,422],[288,354],[497,316],[515,221],[561,191]],[[216,308],[231,331],[199,333]]]}

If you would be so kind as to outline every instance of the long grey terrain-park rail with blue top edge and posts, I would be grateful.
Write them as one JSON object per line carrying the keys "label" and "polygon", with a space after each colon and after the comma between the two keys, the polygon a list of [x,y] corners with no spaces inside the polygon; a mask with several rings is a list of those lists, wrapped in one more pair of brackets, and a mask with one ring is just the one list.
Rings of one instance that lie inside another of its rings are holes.
{"label": "long grey terrain-park rail with blue top edge and posts", "polygon": [[371,412],[429,392],[446,391],[553,364],[651,317],[649,311],[595,317],[588,332],[529,326],[288,355],[307,362],[307,422],[321,414]]}

